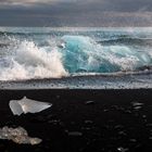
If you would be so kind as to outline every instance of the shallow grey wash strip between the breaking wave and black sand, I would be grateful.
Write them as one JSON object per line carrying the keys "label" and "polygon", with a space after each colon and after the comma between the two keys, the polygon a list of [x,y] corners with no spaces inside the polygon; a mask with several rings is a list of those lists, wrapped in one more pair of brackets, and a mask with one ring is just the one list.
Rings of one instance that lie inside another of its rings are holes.
{"label": "shallow grey wash strip between the breaking wave and black sand", "polygon": [[35,90],[35,89],[152,89],[152,74],[119,74],[117,76],[90,75],[63,78],[45,78],[16,81],[0,81],[3,90]]}

